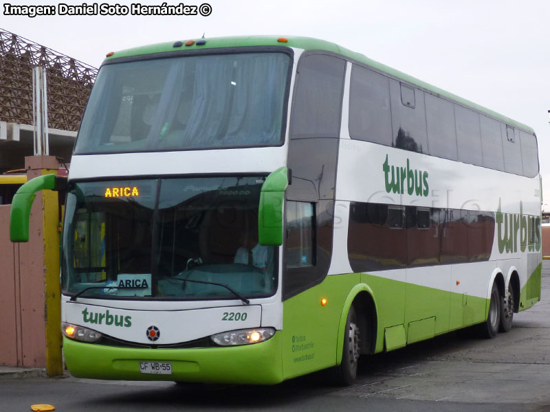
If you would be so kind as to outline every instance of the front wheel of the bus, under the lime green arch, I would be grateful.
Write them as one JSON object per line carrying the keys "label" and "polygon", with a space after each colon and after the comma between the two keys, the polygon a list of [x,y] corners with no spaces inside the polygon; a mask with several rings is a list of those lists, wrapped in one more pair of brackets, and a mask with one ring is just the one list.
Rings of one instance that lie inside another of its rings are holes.
{"label": "front wheel of the bus, under the lime green arch", "polygon": [[335,380],[339,386],[350,386],[357,376],[360,330],[353,305],[349,308],[342,346],[342,362],[336,367]]}

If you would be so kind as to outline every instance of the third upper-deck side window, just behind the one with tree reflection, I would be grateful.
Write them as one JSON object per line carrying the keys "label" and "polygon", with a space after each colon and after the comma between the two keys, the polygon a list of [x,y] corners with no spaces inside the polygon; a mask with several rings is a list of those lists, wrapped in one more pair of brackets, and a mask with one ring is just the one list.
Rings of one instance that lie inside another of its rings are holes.
{"label": "third upper-deck side window, just behind the one with tree reflection", "polygon": [[426,94],[426,123],[430,155],[457,160],[454,105],[437,96]]}

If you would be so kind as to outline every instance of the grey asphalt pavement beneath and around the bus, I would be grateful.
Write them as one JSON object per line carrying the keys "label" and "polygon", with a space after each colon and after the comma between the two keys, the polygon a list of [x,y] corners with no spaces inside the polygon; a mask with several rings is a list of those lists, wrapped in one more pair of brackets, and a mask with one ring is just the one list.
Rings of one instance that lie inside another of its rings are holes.
{"label": "grey asphalt pavement beneath and around the bus", "polygon": [[326,372],[272,387],[112,382],[43,369],[0,367],[0,411],[550,411],[550,260],[542,300],[514,316],[510,332],[479,339],[462,330],[362,358],[349,388]]}

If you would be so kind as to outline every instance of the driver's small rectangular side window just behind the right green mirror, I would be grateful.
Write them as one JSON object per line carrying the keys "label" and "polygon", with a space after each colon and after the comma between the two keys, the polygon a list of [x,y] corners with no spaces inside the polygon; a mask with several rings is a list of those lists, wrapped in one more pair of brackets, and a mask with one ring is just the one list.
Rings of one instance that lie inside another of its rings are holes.
{"label": "driver's small rectangular side window just behind the right green mirror", "polygon": [[315,265],[315,219],[313,203],[287,201],[287,268]]}

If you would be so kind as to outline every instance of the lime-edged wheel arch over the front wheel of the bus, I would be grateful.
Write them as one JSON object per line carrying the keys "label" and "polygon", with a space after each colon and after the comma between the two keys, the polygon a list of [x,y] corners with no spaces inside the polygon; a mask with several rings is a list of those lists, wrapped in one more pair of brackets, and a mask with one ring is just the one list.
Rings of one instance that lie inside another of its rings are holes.
{"label": "lime-edged wheel arch over the front wheel of the bus", "polygon": [[[367,284],[355,285],[349,292],[344,301],[342,313],[340,314],[340,323],[338,325],[338,339],[336,342],[336,364],[342,362],[342,345],[344,344],[344,335],[346,321],[351,305],[355,306],[356,315],[360,330],[370,330],[368,340],[361,341],[360,351],[364,354],[373,354],[376,344],[377,331],[377,304],[374,298],[373,290]],[[365,328],[365,329],[362,329]]]}

